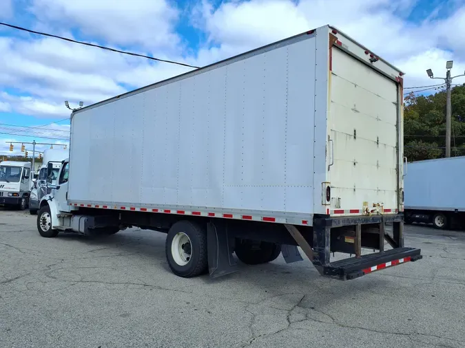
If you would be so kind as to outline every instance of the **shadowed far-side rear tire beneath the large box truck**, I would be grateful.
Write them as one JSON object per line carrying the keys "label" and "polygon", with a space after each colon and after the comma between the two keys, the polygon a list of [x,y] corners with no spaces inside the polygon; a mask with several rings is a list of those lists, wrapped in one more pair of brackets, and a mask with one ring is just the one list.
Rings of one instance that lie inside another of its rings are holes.
{"label": "shadowed far-side rear tire beneath the large box truck", "polygon": [[266,241],[253,242],[249,240],[238,241],[236,243],[236,256],[240,261],[247,265],[258,265],[267,263],[276,258],[281,253],[280,244],[269,243]]}

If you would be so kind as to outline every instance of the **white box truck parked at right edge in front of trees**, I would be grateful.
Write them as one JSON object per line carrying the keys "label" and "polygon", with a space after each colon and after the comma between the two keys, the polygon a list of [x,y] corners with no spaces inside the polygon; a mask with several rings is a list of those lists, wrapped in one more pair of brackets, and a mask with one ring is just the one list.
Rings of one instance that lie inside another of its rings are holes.
{"label": "white box truck parked at right edge in front of trees", "polygon": [[411,162],[404,177],[406,224],[464,225],[465,156]]}

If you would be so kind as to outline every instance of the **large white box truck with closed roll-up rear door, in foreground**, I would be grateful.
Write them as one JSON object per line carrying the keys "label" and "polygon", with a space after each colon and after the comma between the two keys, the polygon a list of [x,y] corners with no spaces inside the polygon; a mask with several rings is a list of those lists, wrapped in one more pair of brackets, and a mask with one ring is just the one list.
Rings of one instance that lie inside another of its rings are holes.
{"label": "large white box truck with closed roll-up rear door, in foreground", "polygon": [[297,246],[344,280],[421,259],[402,230],[402,81],[325,25],[74,111],[39,233],[165,232],[184,277]]}

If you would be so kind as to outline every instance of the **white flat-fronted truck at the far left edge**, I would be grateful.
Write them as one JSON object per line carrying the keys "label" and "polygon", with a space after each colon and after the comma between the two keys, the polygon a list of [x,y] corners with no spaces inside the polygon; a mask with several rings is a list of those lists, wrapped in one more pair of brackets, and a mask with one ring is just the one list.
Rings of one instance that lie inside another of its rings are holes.
{"label": "white flat-fronted truck at the far left edge", "polygon": [[0,205],[24,210],[29,203],[30,162],[0,162]]}

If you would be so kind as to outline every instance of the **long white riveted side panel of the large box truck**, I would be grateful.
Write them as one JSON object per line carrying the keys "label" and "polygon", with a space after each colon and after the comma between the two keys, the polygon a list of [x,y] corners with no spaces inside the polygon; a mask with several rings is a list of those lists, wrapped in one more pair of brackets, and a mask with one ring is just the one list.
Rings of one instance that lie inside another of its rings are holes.
{"label": "long white riveted side panel of the large box truck", "polygon": [[76,113],[74,202],[313,213],[315,39]]}

